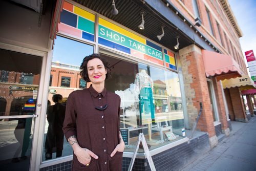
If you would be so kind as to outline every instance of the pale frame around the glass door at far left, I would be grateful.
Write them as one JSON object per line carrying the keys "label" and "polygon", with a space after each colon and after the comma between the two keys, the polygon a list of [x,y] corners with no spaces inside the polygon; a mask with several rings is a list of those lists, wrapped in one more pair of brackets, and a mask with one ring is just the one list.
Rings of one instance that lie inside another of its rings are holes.
{"label": "pale frame around the glass door at far left", "polygon": [[[35,114],[37,117],[34,119],[34,129],[33,129],[33,138],[32,138],[32,147],[31,147],[31,157],[30,157],[30,170],[39,170],[39,165],[41,161],[41,144],[43,141],[43,134],[42,129],[44,129],[45,125],[45,113],[47,109],[47,95],[48,93],[48,84],[49,84],[49,78],[46,79],[46,75],[50,72],[50,69],[47,67],[47,58],[49,58],[49,53],[39,50],[33,50],[25,47],[19,47],[14,45],[5,44],[3,42],[0,42],[0,48],[5,50],[10,50],[14,52],[20,52],[30,55],[35,55],[42,57],[42,63],[41,63],[41,73],[40,73],[40,81],[39,81],[39,89],[37,94],[37,103],[36,103],[36,111]],[[50,59],[51,60],[51,59]],[[22,63],[20,63],[22,65]],[[51,65],[50,65],[51,67]],[[47,70],[48,69],[48,70]],[[39,154],[39,155],[38,155]],[[39,161],[39,163],[38,163]]]}

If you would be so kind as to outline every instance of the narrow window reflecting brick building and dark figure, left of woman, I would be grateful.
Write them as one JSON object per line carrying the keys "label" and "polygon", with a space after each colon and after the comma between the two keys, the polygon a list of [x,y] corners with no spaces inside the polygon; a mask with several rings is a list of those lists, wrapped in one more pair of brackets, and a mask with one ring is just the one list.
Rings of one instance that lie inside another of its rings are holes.
{"label": "narrow window reflecting brick building and dark figure, left of woman", "polygon": [[86,82],[80,77],[80,65],[82,59],[93,52],[91,45],[61,36],[55,39],[42,161],[73,154],[62,132],[66,102],[71,92],[86,88]]}

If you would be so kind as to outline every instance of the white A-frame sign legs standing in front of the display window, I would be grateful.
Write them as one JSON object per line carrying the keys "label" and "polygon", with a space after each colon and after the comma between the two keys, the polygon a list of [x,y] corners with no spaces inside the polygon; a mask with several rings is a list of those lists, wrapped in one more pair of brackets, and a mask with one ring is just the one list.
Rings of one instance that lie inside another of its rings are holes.
{"label": "white A-frame sign legs standing in front of the display window", "polygon": [[131,163],[130,163],[130,165],[129,165],[128,170],[129,170],[129,171],[132,171],[132,169],[133,169],[133,164],[134,164],[136,155],[137,155],[137,153],[138,153],[138,149],[139,149],[140,142],[142,142],[142,146],[143,146],[143,148],[144,148],[145,155],[146,155],[148,164],[150,164],[151,170],[152,170],[152,171],[156,171],[154,162],[153,162],[152,157],[151,157],[151,155],[150,155],[150,150],[149,150],[148,147],[147,147],[146,139],[145,139],[143,133],[140,133],[140,135],[139,135],[139,138],[138,138],[138,141],[137,141],[137,145],[136,145],[136,148],[135,148],[135,152],[134,152],[133,157],[132,157],[132,159],[131,159]]}

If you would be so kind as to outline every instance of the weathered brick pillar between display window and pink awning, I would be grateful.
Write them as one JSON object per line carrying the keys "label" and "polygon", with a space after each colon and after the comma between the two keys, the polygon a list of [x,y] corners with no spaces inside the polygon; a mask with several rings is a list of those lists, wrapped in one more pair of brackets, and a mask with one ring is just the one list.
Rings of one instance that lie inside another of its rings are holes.
{"label": "weathered brick pillar between display window and pink awning", "polygon": [[214,119],[210,107],[210,97],[201,49],[191,45],[181,49],[179,53],[182,63],[190,129],[193,127],[199,113],[199,102],[202,102],[203,111],[197,129],[207,132],[209,137],[215,136]]}

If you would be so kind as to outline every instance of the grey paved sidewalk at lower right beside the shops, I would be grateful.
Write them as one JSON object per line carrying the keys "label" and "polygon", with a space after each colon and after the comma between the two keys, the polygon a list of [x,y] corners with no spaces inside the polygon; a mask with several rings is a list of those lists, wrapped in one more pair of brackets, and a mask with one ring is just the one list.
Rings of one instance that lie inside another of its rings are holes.
{"label": "grey paved sidewalk at lower right beside the shops", "polygon": [[229,137],[182,170],[256,170],[256,117],[248,123],[232,121],[231,126]]}

